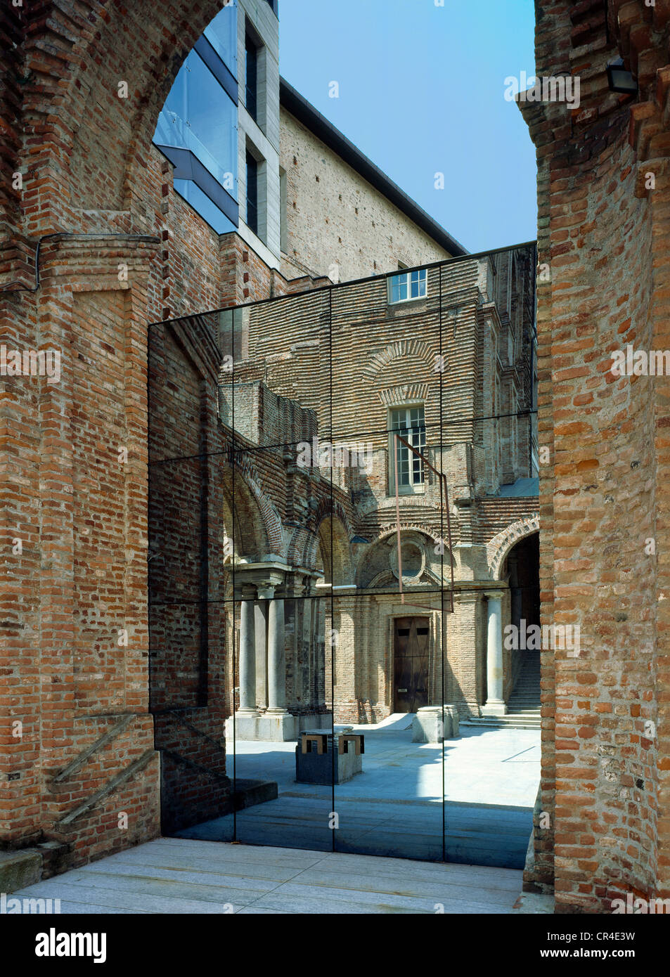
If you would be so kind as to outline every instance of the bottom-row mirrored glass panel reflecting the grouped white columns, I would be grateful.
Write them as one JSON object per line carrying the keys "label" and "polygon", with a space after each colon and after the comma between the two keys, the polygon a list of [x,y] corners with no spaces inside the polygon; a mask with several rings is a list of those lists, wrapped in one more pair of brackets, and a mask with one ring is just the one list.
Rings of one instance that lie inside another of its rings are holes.
{"label": "bottom-row mirrored glass panel reflecting the grouped white columns", "polygon": [[[247,798],[235,838],[249,844],[332,850],[332,710],[325,658],[327,598],[314,574],[301,576],[306,596],[284,599],[289,570],[245,569],[236,615],[233,731],[235,787]],[[293,575],[293,574],[290,574]],[[247,586],[250,579],[253,584]],[[295,592],[296,583],[288,584]],[[253,632],[253,633],[252,633]],[[246,691],[245,691],[246,690]]]}

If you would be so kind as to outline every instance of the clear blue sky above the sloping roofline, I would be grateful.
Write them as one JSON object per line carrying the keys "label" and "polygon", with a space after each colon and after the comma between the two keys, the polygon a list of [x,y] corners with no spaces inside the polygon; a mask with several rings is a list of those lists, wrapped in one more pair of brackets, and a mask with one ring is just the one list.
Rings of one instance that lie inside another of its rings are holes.
{"label": "clear blue sky above the sloping roofline", "polygon": [[279,0],[282,75],[470,251],[536,236],[533,42],[532,0]]}

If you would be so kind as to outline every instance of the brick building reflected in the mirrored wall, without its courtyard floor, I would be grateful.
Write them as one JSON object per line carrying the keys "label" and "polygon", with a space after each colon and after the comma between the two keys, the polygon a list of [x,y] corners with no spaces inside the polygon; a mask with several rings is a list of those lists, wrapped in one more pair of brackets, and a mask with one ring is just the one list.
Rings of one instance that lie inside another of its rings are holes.
{"label": "brick building reflected in the mirrored wall, without its courtyard floor", "polygon": [[524,247],[150,327],[165,826],[225,802],[233,708],[235,735],[266,741],[333,712],[506,711],[523,654],[502,625],[536,618],[534,263]]}

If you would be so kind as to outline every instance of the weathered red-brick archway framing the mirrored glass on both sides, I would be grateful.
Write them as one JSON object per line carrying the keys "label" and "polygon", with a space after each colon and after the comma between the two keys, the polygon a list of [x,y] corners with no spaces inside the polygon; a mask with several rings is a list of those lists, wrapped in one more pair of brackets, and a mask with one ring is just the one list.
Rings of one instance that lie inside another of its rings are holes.
{"label": "weathered red-brick archway framing the mirrored glass on both sides", "polygon": [[[58,349],[68,378],[14,377],[0,408],[0,834],[4,848],[36,846],[47,873],[159,830],[147,322],[312,284],[284,283],[240,234],[215,234],[152,148],[179,66],[221,6],[39,0],[0,11],[13,176],[0,182],[2,339]],[[536,19],[538,73],[584,82],[571,113],[523,106],[550,270],[538,288],[542,616],[580,622],[589,640],[579,658],[542,653],[548,818],[526,885],[553,890],[557,912],[609,912],[627,893],[670,894],[667,379],[608,369],[622,344],[670,348],[670,11],[661,0],[538,0]],[[609,91],[618,57],[637,94]],[[132,79],[128,99],[120,79]]]}

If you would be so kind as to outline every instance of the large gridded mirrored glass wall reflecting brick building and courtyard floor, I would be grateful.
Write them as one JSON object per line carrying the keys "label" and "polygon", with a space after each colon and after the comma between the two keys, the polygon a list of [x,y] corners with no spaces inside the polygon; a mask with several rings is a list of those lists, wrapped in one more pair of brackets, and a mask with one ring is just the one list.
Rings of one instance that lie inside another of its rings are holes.
{"label": "large gridded mirrored glass wall reflecting brick building and courtyard floor", "polygon": [[[377,355],[383,276],[150,327],[149,661],[166,833],[523,867],[532,801],[509,798],[539,745],[459,731],[453,704],[470,681],[453,648],[469,622],[473,642],[486,626],[481,585],[453,584],[454,458],[497,423],[475,402],[453,410],[436,368],[464,267],[427,271],[412,386]],[[406,349],[407,328],[384,319],[386,347]],[[294,332],[310,337],[299,363]],[[250,348],[272,358],[263,380]],[[518,421],[521,437],[531,417]],[[404,493],[393,468],[415,473]],[[512,620],[539,619],[536,547],[510,560]]]}

